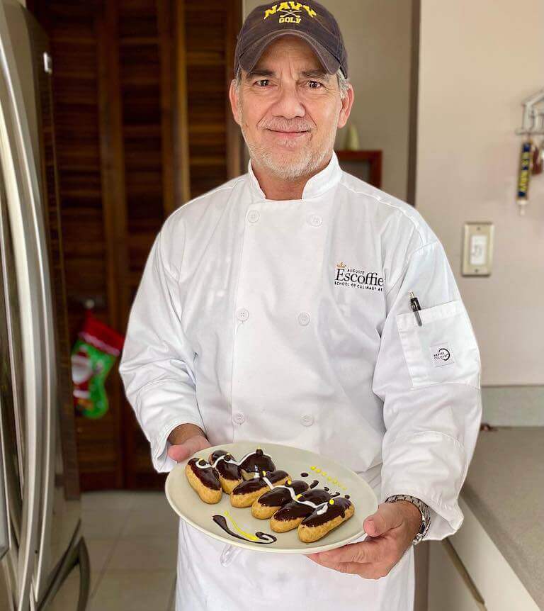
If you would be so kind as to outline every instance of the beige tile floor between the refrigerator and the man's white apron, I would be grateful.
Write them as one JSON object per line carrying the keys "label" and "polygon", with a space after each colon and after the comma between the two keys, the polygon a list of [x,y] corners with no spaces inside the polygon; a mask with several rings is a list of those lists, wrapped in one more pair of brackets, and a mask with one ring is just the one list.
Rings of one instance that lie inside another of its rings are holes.
{"label": "beige tile floor between the refrigerator and the man's white apron", "polygon": [[162,491],[81,495],[89,611],[174,611],[179,517]]}

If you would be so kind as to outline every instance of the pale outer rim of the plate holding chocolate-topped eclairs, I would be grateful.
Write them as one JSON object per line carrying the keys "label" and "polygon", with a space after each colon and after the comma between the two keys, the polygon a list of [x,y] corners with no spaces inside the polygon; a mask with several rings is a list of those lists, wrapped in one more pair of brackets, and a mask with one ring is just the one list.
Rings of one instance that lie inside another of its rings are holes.
{"label": "pale outer rim of the plate holding chocolate-topped eclairs", "polygon": [[[336,549],[339,548],[341,546],[347,545],[349,542],[353,541],[353,539],[357,539],[358,537],[362,537],[364,535],[364,539],[363,541],[368,537],[368,534],[365,532],[365,529],[363,528],[363,525],[361,524],[361,530],[359,532],[356,532],[356,534],[350,535],[349,537],[346,537],[346,539],[342,539],[341,542],[336,542],[336,543],[329,543],[329,544],[322,544],[322,545],[312,545],[309,546],[307,548],[279,548],[278,547],[271,547],[271,546],[255,546],[255,545],[251,545],[251,542],[244,542],[242,541],[242,539],[236,539],[236,537],[232,537],[232,539],[234,539],[233,541],[231,541],[230,539],[227,539],[227,537],[225,535],[222,534],[217,534],[215,532],[211,532],[208,529],[205,529],[204,527],[196,524],[196,522],[194,522],[193,520],[191,520],[191,518],[185,516],[185,515],[181,515],[181,513],[176,509],[175,504],[173,503],[171,496],[169,494],[169,486],[171,486],[171,481],[174,479],[173,477],[171,477],[171,473],[173,473],[174,471],[179,469],[183,469],[185,470],[186,464],[188,463],[188,461],[190,461],[194,456],[198,456],[198,454],[200,454],[200,452],[214,452],[216,449],[225,449],[225,446],[235,446],[237,444],[256,444],[256,447],[264,447],[266,445],[268,446],[276,446],[276,447],[288,447],[288,448],[292,448],[292,449],[297,449],[297,450],[302,450],[303,452],[309,452],[310,454],[313,454],[316,457],[320,457],[319,454],[317,454],[316,452],[312,452],[312,450],[307,450],[305,448],[300,448],[297,446],[290,446],[288,444],[278,444],[275,442],[254,442],[251,439],[241,439],[239,442],[229,442],[229,443],[224,443],[224,444],[219,444],[219,445],[215,445],[215,446],[210,446],[209,448],[204,448],[201,450],[198,450],[198,452],[194,452],[193,454],[191,454],[191,456],[188,456],[188,458],[184,459],[183,461],[177,463],[168,473],[168,476],[166,476],[166,480],[164,481],[164,493],[166,495],[166,498],[168,499],[169,505],[172,508],[172,510],[174,510],[174,512],[176,512],[176,514],[181,518],[181,520],[185,520],[185,522],[187,522],[189,525],[193,526],[194,528],[198,529],[200,532],[203,532],[204,534],[207,534],[208,537],[213,537],[214,539],[217,539],[217,541],[223,542],[227,545],[233,545],[233,546],[237,546],[237,547],[241,547],[242,549],[249,549],[251,551],[264,551],[268,554],[317,554],[319,551],[329,551],[331,549]],[[350,469],[348,466],[342,465],[340,464],[338,461],[336,461],[335,459],[329,458],[329,456],[325,456],[325,458],[327,459],[327,461],[339,466],[341,469],[347,469],[348,471],[351,471],[351,473],[356,476],[356,478],[358,478],[361,483],[363,483],[363,487],[368,488],[368,491],[370,491],[370,494],[372,495],[372,498],[374,500],[374,505],[375,505],[375,510],[378,509],[378,497],[376,496],[375,492],[373,491],[372,486],[370,486],[370,484],[368,483],[368,481],[366,481],[365,479],[363,479],[361,476],[358,475],[358,473],[356,473],[355,471],[353,471],[353,469]],[[369,514],[370,515],[370,514]],[[364,520],[363,520],[364,522]]]}

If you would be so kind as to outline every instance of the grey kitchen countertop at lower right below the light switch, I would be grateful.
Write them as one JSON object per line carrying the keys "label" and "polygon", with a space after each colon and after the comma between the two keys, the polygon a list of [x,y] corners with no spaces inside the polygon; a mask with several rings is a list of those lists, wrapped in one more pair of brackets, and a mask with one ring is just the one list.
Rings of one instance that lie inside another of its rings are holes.
{"label": "grey kitchen countertop at lower right below the light switch", "polygon": [[544,609],[544,427],[481,431],[461,494]]}

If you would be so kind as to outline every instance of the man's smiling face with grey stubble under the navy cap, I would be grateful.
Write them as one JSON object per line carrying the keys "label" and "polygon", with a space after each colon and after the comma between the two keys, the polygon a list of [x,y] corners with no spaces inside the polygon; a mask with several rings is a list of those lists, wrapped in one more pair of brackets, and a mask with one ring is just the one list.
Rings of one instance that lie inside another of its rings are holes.
{"label": "man's smiling face with grey stubble under the navy cap", "polygon": [[342,101],[336,75],[324,72],[312,47],[293,35],[273,40],[229,96],[251,158],[284,180],[322,167],[353,103],[351,86]]}

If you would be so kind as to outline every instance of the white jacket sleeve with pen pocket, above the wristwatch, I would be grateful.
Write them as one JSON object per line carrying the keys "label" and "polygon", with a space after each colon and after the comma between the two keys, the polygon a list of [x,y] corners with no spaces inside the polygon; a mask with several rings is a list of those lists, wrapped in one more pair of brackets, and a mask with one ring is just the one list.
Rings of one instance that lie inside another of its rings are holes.
{"label": "white jacket sleeve with pen pocket, above the wristwatch", "polygon": [[423,500],[426,539],[443,539],[463,523],[458,495],[482,417],[480,350],[440,242],[414,250],[393,281],[373,376],[386,429],[380,503],[393,494]]}

